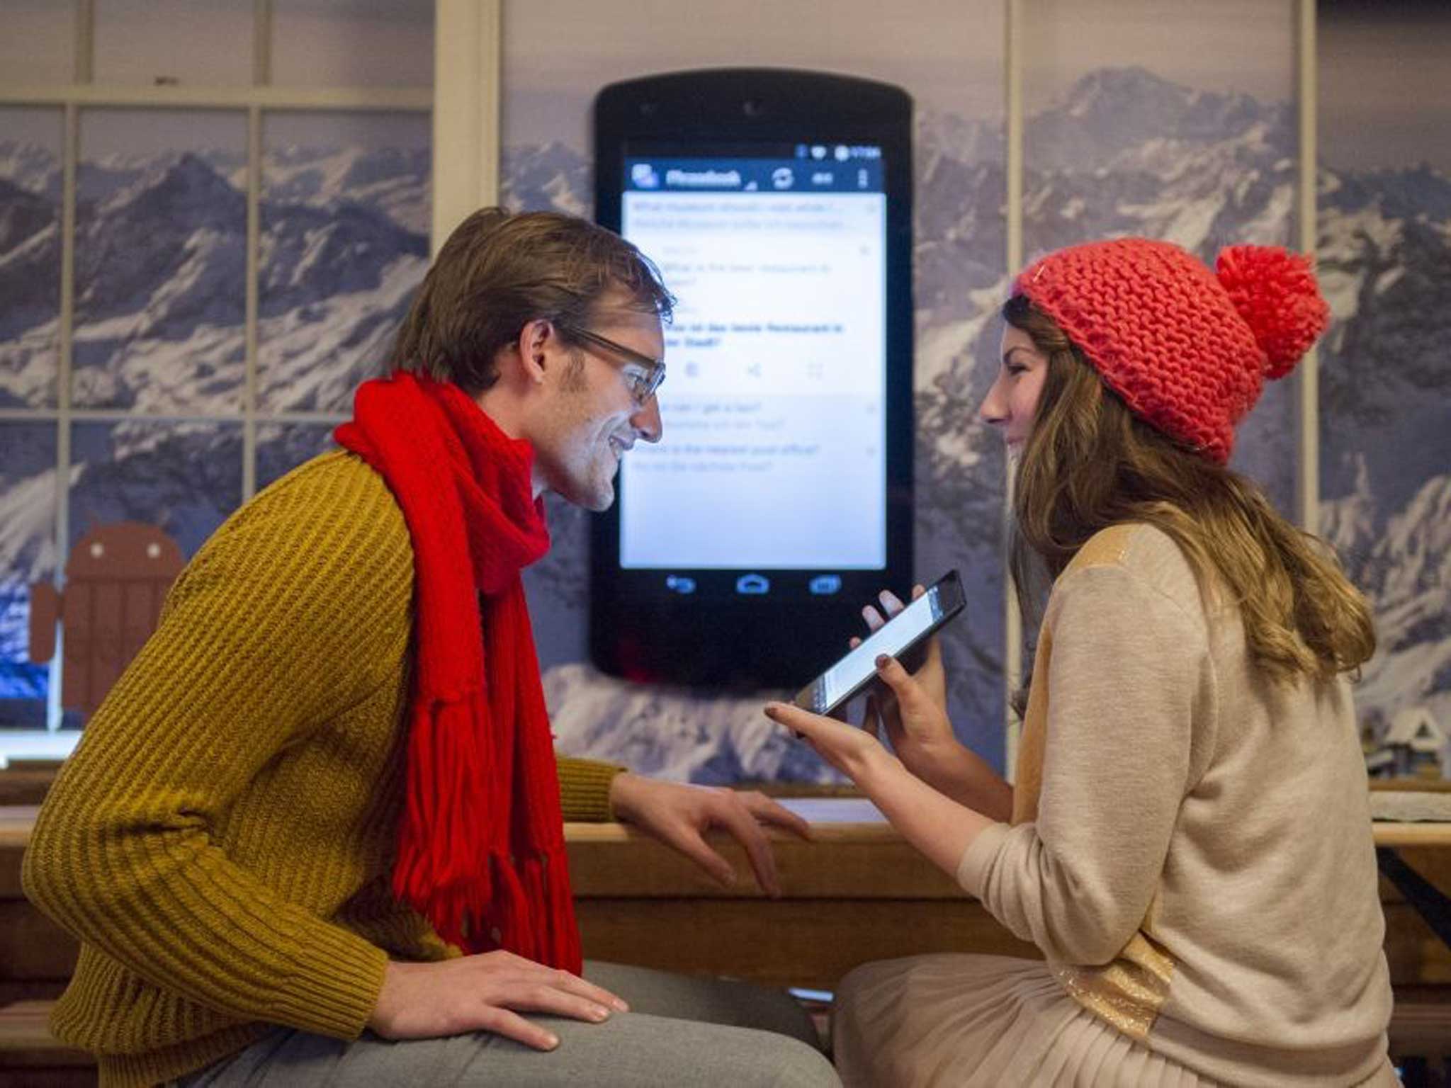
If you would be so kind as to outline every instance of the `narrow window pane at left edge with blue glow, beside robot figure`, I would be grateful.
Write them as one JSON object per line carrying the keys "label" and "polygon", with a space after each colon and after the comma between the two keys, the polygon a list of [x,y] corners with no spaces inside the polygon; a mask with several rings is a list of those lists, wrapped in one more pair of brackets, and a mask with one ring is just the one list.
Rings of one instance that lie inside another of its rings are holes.
{"label": "narrow window pane at left edge with blue glow, beside robot figure", "polygon": [[0,422],[0,728],[45,727],[29,627],[32,586],[55,577],[55,424]]}

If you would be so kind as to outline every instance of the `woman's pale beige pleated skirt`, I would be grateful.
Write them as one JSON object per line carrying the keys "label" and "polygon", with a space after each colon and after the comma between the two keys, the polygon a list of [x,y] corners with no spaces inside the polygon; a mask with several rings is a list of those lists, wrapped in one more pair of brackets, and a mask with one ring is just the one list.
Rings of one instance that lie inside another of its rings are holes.
{"label": "woman's pale beige pleated skirt", "polygon": [[837,989],[831,1042],[847,1088],[1214,1084],[1082,1008],[1040,960],[1006,956],[860,966]]}

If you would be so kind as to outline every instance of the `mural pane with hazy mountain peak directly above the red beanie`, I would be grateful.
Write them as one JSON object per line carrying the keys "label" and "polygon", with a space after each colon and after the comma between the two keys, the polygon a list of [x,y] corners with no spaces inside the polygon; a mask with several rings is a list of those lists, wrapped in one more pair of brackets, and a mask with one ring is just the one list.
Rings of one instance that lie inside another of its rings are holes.
{"label": "mural pane with hazy mountain peak directly above the red beanie", "polygon": [[[1023,248],[1296,245],[1291,0],[1027,0]],[[1232,466],[1294,515],[1299,399],[1265,383]]]}

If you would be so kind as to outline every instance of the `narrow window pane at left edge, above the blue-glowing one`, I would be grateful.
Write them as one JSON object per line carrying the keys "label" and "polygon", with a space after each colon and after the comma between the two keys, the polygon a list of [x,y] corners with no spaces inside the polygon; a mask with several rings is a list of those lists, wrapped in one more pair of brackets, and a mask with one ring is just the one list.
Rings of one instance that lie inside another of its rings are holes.
{"label": "narrow window pane at left edge, above the blue-glowing one", "polygon": [[55,109],[0,109],[0,408],[57,399],[61,145]]}

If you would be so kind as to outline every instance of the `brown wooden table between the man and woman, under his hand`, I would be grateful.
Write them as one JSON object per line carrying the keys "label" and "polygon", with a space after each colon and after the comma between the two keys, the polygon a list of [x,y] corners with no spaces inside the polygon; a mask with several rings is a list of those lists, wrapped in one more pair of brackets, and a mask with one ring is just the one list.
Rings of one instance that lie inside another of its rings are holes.
{"label": "brown wooden table between the man and woman, under his hand", "polygon": [[[672,970],[734,973],[830,989],[858,963],[948,949],[1037,956],[863,802],[797,799],[815,840],[776,836],[784,895],[744,881],[724,891],[653,838],[620,824],[566,828],[576,911],[588,955]],[[1377,824],[1377,846],[1451,892],[1451,827]],[[744,876],[743,852],[720,843]],[[1451,985],[1451,949],[1381,881],[1392,981]]]}

